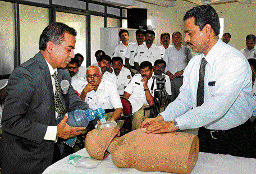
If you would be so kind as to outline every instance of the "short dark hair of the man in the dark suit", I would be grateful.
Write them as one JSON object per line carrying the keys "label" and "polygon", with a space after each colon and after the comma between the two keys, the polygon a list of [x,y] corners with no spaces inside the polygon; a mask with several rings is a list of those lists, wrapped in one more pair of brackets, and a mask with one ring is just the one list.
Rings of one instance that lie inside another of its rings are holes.
{"label": "short dark hair of the man in the dark suit", "polygon": [[43,30],[43,33],[40,35],[39,49],[45,50],[46,45],[49,41],[53,42],[56,45],[60,45],[64,41],[63,38],[65,32],[76,36],[75,29],[61,22],[54,22],[51,25],[48,25]]}

